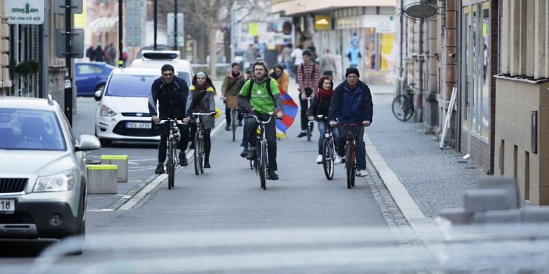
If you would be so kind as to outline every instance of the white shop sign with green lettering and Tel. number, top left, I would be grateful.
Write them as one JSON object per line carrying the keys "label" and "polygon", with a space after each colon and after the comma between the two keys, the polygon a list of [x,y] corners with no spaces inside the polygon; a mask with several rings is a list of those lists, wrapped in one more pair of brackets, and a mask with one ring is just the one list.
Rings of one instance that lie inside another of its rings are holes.
{"label": "white shop sign with green lettering and Tel. number, top left", "polygon": [[44,0],[5,1],[8,24],[42,25]]}

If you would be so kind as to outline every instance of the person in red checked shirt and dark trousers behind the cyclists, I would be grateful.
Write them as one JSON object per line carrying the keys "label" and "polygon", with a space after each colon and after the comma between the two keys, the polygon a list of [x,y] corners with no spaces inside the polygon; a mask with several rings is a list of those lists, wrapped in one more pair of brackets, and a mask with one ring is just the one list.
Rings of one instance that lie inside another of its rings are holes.
{"label": "person in red checked shirt and dark trousers behind the cyclists", "polygon": [[301,108],[301,132],[297,136],[301,138],[307,136],[307,98],[312,97],[318,88],[320,79],[320,69],[318,65],[311,60],[311,51],[303,51],[303,64],[297,69],[297,83],[299,84],[299,106]]}

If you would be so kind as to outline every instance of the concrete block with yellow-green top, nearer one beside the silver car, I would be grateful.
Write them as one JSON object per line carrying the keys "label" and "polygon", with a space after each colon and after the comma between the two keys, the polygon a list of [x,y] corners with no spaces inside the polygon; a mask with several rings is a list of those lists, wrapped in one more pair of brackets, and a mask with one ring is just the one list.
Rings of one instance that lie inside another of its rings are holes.
{"label": "concrete block with yellow-green top, nearer one beside the silver car", "polygon": [[117,194],[117,166],[114,164],[91,164],[88,169],[89,194]]}

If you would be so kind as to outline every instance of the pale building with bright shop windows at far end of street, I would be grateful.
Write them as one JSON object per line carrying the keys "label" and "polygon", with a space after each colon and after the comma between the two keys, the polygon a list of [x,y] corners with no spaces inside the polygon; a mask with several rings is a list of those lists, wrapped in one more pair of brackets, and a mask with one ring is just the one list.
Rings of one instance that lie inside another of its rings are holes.
{"label": "pale building with bright shop windows at far end of street", "polygon": [[396,1],[273,0],[271,3],[271,12],[292,17],[296,44],[304,48],[313,45],[318,56],[329,49],[341,57],[336,79],[342,79],[342,71],[349,66],[346,55],[352,39],[362,55],[358,69],[366,82],[393,82]]}

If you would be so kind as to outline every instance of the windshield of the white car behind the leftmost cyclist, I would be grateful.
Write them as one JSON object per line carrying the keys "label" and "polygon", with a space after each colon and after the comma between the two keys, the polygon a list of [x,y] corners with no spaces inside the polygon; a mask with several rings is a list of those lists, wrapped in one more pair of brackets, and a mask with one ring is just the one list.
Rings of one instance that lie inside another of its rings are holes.
{"label": "windshield of the white car behind the leftmost cyclist", "polygon": [[119,97],[148,97],[154,79],[159,75],[113,75],[106,95]]}

